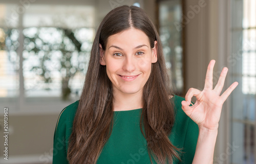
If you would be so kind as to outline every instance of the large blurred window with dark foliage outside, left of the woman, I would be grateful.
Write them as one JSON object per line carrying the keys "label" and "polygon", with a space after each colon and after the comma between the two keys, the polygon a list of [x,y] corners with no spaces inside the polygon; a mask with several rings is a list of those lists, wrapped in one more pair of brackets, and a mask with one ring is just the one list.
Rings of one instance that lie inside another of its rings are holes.
{"label": "large blurred window with dark foliage outside, left of the woman", "polygon": [[35,103],[78,100],[95,35],[95,8],[18,3],[0,4],[1,104],[19,111]]}

